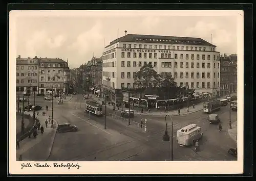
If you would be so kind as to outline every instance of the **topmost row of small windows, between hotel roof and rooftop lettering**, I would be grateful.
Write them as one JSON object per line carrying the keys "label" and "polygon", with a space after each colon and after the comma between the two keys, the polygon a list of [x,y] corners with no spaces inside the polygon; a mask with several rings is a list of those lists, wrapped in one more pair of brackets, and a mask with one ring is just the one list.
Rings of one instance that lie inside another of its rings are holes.
{"label": "topmost row of small windows, between hotel roof and rooftop lettering", "polygon": [[[148,47],[149,47],[149,49],[152,49],[153,46],[152,45],[147,46],[146,44],[144,44],[143,48],[147,49]],[[132,44],[128,44],[126,46],[126,43],[124,43],[123,48],[132,48]],[[137,44],[133,44],[133,48],[137,48]],[[139,48],[142,48],[142,44],[139,44]],[[154,45],[154,49],[162,49],[162,48],[163,49],[166,49],[166,48],[171,49],[171,45],[167,45],[167,46],[166,45]],[[180,50],[180,48],[181,48],[181,50],[184,50],[184,46],[173,46],[172,47],[173,50],[175,50],[175,49]],[[202,51],[201,46],[199,46],[199,48],[197,46],[196,47],[190,46],[190,50],[194,50],[194,48],[196,51],[197,50]],[[186,50],[189,50],[188,46],[186,46]],[[203,50],[205,51],[206,47],[203,47]],[[215,51],[215,48],[213,47],[212,50]]]}

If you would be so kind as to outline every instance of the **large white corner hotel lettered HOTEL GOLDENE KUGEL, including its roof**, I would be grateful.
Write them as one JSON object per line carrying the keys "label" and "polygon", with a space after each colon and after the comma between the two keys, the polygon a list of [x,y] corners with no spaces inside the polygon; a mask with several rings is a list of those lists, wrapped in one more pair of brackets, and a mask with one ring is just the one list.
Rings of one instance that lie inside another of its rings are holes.
{"label": "large white corner hotel lettered HOTEL GOLDENE KUGEL, including its roof", "polygon": [[105,47],[102,85],[117,100],[123,87],[137,87],[135,72],[150,63],[162,77],[171,73],[178,86],[219,96],[219,59],[216,46],[201,38],[127,34]]}

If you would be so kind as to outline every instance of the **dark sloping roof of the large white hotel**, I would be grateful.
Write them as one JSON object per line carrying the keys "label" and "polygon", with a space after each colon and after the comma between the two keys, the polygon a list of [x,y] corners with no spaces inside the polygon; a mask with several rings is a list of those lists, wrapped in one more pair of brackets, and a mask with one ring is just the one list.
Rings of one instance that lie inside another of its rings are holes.
{"label": "dark sloping roof of the large white hotel", "polygon": [[[113,45],[117,42],[121,42],[121,41],[122,42],[146,42],[146,43],[209,45],[209,46],[216,47],[216,45],[212,45],[209,42],[203,40],[202,38],[160,36],[160,35],[136,35],[136,34],[127,34],[123,37],[117,38],[114,41],[110,42],[110,44],[108,46]],[[108,47],[108,46],[106,46],[106,47]]]}

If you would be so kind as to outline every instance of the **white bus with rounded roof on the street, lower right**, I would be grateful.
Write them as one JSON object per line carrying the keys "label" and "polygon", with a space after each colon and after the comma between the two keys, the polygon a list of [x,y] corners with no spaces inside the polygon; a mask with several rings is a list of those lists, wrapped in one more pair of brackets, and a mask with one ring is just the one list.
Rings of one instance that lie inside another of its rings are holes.
{"label": "white bus with rounded roof on the street, lower right", "polygon": [[189,124],[177,131],[177,142],[180,146],[194,145],[203,136],[201,127]]}

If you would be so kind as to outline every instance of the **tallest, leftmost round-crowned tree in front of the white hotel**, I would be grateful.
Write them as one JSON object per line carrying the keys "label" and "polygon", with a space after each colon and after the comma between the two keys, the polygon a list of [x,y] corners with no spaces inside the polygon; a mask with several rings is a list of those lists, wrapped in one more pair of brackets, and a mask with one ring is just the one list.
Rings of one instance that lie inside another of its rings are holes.
{"label": "tallest, leftmost round-crowned tree in front of the white hotel", "polygon": [[134,83],[142,85],[144,88],[148,88],[152,83],[156,83],[157,79],[158,74],[156,70],[153,69],[152,64],[146,64],[136,72]]}

